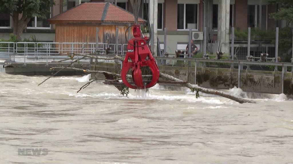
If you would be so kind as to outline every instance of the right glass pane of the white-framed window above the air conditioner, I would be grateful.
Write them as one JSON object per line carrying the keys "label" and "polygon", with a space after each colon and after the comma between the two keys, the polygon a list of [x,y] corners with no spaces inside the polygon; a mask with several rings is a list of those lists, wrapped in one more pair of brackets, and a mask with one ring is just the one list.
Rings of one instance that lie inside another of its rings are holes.
{"label": "right glass pane of the white-framed window above the air conditioner", "polygon": [[197,29],[197,4],[186,4],[185,8],[185,29]]}

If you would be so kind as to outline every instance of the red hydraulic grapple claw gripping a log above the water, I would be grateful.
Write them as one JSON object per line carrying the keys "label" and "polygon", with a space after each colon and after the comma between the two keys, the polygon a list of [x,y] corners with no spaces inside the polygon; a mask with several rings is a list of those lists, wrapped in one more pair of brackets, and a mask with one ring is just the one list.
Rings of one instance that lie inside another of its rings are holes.
{"label": "red hydraulic grapple claw gripping a log above the water", "polygon": [[[129,88],[150,88],[158,82],[160,71],[154,57],[151,55],[151,50],[149,49],[149,45],[147,43],[149,37],[142,37],[139,24],[133,25],[133,36],[134,38],[128,41],[127,53],[121,70],[121,78],[123,83]],[[131,61],[128,61],[129,58]],[[147,66],[151,69],[152,73],[152,80],[149,83],[145,83],[142,80],[141,67]],[[127,72],[130,68],[132,70],[132,79],[134,81],[134,85],[131,85],[126,78]]]}

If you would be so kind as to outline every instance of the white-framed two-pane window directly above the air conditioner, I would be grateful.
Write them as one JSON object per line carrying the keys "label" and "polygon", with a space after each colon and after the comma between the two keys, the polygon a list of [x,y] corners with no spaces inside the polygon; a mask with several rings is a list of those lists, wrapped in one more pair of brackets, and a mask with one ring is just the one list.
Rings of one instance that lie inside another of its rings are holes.
{"label": "white-framed two-pane window directly above the air conditioner", "polygon": [[177,29],[198,29],[198,4],[178,4]]}

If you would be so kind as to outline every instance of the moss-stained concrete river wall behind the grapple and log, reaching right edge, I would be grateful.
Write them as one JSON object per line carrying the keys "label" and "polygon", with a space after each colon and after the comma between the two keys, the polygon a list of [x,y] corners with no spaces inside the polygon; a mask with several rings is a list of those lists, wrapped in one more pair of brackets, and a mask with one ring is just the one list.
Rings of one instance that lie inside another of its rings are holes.
{"label": "moss-stained concrete river wall behind the grapple and log, reaching right edge", "polygon": [[[93,63],[91,64],[93,69]],[[159,66],[161,72],[194,84],[194,67]],[[97,69],[120,74],[120,64],[98,62]],[[284,93],[293,97],[293,77],[285,73]],[[238,69],[197,67],[196,81],[199,86],[214,89],[230,89],[238,86]],[[240,88],[245,92],[282,93],[282,72],[241,70]]]}

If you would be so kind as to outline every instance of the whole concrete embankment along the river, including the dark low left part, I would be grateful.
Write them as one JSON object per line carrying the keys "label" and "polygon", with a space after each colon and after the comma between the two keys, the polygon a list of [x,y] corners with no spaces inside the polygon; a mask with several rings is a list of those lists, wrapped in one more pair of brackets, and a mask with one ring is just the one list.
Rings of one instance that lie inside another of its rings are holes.
{"label": "whole concrete embankment along the river, including the dark low left part", "polygon": [[[10,63],[6,64],[5,71],[7,74],[20,75],[51,75],[56,71],[50,71],[51,67],[64,67],[68,62],[49,63],[45,66],[44,62],[38,63]],[[89,62],[74,63],[75,68],[89,69]],[[95,64],[91,62],[91,70],[94,70]],[[195,83],[195,69],[194,67],[172,67],[159,66],[161,72],[179,78],[189,83]],[[120,74],[121,64],[113,62],[97,62],[96,70],[115,72]],[[3,72],[3,71],[2,71]],[[60,71],[59,76],[80,75],[83,72],[72,70]],[[98,75],[102,77],[103,75]],[[238,86],[238,69],[230,68],[207,68],[197,67],[196,69],[196,83],[205,88],[214,89],[230,89]],[[293,97],[293,77],[291,72],[284,73],[284,94]],[[240,70],[240,88],[246,92],[257,93],[282,93],[282,72],[278,71],[255,71],[255,70]]]}

